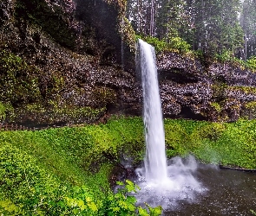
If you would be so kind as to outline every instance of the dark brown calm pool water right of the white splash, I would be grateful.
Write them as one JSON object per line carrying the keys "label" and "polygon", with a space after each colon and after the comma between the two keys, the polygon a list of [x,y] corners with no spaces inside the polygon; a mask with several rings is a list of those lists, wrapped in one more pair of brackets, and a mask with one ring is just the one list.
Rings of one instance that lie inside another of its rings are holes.
{"label": "dark brown calm pool water right of the white splash", "polygon": [[193,200],[179,200],[164,215],[253,215],[256,174],[199,165],[194,177],[206,188]]}

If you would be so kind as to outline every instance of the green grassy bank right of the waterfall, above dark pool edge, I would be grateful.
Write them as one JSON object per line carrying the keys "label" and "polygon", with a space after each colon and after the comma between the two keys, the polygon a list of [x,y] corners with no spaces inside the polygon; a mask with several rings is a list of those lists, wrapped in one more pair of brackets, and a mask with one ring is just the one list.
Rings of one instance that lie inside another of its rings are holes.
{"label": "green grassy bank right of the waterfall, above dark pool edge", "polygon": [[[170,126],[172,125],[172,126]],[[191,120],[166,120],[167,156],[194,154],[203,162],[256,168],[255,120],[220,124]],[[176,130],[178,132],[176,132]],[[169,151],[170,146],[175,148]]]}

